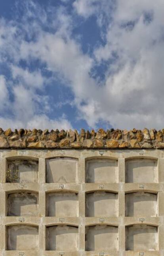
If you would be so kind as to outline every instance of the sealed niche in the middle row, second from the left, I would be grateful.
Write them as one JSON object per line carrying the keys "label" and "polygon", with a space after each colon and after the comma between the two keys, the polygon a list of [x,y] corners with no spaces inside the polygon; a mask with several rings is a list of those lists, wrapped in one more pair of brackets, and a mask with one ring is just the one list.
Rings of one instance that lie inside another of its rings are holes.
{"label": "sealed niche in the middle row, second from the left", "polygon": [[74,192],[47,193],[46,216],[78,217],[78,194]]}

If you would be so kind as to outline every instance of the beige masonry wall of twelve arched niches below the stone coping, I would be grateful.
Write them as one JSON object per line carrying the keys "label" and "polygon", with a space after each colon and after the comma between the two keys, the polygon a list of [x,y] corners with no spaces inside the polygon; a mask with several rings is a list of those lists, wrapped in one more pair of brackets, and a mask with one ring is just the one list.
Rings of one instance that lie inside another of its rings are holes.
{"label": "beige masonry wall of twelve arched niches below the stone coping", "polygon": [[164,256],[164,151],[0,150],[0,216],[2,256]]}

